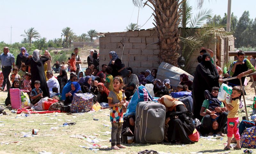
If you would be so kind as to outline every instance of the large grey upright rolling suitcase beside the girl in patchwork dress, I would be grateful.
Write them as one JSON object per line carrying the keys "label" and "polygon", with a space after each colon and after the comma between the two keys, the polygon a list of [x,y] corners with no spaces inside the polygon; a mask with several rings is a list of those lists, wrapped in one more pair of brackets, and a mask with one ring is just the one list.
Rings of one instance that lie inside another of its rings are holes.
{"label": "large grey upright rolling suitcase beside the girl in patchwork dress", "polygon": [[162,143],[164,141],[165,107],[148,101],[136,106],[134,138],[136,143]]}

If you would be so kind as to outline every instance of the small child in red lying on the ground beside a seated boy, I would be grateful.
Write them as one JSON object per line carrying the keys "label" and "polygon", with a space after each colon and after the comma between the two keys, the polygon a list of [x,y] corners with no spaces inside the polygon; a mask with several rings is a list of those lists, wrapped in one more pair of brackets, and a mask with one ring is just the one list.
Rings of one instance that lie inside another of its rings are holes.
{"label": "small child in red lying on the ground beside a seated boy", "polygon": [[31,107],[31,110],[36,111],[44,111],[49,110],[49,107],[55,103],[58,102],[60,98],[58,96],[53,96],[52,98],[44,97],[41,100],[39,100],[34,106]]}

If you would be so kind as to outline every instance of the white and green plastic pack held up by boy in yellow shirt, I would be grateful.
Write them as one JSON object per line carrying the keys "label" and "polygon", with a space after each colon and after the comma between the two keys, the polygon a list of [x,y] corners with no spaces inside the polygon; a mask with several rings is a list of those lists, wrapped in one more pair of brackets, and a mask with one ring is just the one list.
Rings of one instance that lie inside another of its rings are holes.
{"label": "white and green plastic pack held up by boy in yellow shirt", "polygon": [[219,89],[219,94],[218,94],[218,99],[220,101],[226,101],[227,104],[230,104],[231,103],[231,94],[232,94],[232,87],[229,87],[227,84],[223,83],[221,86],[220,86],[220,89]]}

